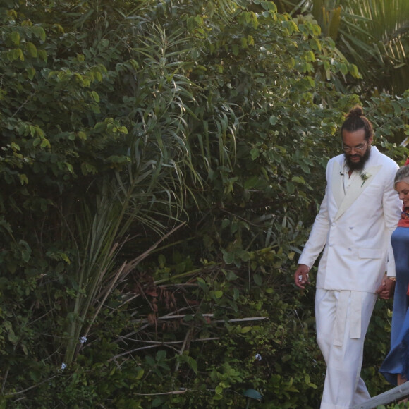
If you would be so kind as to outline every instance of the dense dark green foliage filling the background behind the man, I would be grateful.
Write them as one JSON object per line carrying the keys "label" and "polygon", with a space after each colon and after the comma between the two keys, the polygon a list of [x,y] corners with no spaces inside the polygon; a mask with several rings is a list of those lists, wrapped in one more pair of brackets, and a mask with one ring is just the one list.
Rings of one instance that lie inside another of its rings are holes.
{"label": "dense dark green foliage filling the background behind the man", "polygon": [[[315,408],[291,271],[356,67],[270,1],[1,7],[0,406]],[[408,101],[366,103],[399,161]]]}

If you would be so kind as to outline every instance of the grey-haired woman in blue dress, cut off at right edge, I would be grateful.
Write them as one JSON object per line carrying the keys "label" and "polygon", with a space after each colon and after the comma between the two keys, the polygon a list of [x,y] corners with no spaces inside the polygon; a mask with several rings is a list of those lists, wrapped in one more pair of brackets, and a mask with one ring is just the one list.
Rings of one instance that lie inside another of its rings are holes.
{"label": "grey-haired woman in blue dress, cut off at right edge", "polygon": [[409,380],[409,166],[398,169],[394,185],[403,201],[403,209],[401,220],[391,236],[396,264],[391,350],[379,372],[391,384],[401,385]]}

